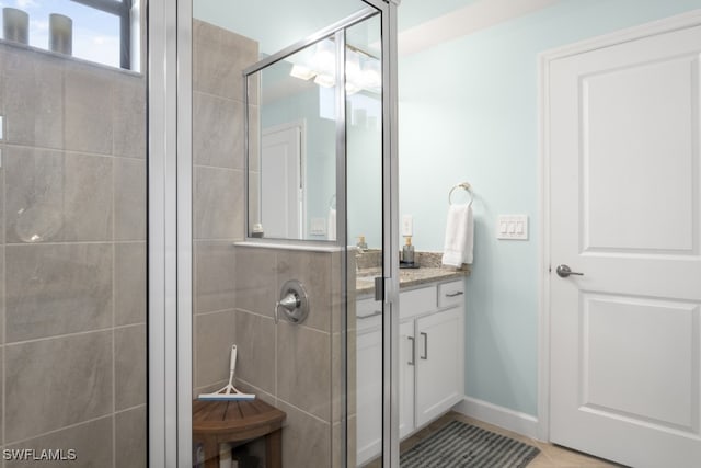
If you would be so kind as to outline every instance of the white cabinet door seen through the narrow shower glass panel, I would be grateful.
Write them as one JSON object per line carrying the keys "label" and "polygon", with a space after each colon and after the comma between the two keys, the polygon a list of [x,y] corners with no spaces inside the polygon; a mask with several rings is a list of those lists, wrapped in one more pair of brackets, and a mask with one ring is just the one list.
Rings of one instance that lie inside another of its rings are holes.
{"label": "white cabinet door seen through the narrow shower glass panel", "polygon": [[358,465],[382,450],[382,332],[374,329],[357,339]]}

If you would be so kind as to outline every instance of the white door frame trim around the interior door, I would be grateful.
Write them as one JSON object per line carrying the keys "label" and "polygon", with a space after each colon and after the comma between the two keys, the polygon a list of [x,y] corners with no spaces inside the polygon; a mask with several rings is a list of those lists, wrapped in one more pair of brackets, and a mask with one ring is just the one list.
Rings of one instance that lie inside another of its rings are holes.
{"label": "white door frame trim around the interior door", "polygon": [[[597,50],[618,44],[641,39],[644,37],[655,36],[673,31],[689,28],[701,25],[701,10],[692,10],[682,14],[665,18],[662,20],[653,21],[642,25],[627,27],[613,33],[605,34],[594,37],[591,39],[585,39],[574,44],[570,44],[563,47],[559,47],[552,50],[547,50],[539,55],[538,71],[539,71],[539,174],[540,181],[540,213],[541,213],[541,239],[540,239],[540,252],[539,255],[539,313],[538,313],[538,437],[541,441],[550,441],[550,353],[551,353],[551,340],[550,340],[550,290],[551,279],[550,274],[551,266],[551,213],[550,213],[550,196],[551,196],[551,173],[550,163],[553,155],[550,151],[550,100],[549,100],[549,87],[550,75],[549,69],[551,62],[571,57],[573,55],[579,55],[591,50]],[[596,455],[596,454],[594,454]]]}

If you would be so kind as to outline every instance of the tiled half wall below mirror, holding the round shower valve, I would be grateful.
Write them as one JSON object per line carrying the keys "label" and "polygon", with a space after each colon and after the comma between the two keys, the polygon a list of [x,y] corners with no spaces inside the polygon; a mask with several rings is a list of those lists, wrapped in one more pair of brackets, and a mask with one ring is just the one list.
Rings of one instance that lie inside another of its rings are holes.
{"label": "tiled half wall below mirror, holding the round shower valve", "polygon": [[[341,466],[341,255],[235,249],[237,374],[245,388],[287,413],[286,467]],[[274,321],[275,300],[288,279],[300,281],[309,295],[302,324]]]}

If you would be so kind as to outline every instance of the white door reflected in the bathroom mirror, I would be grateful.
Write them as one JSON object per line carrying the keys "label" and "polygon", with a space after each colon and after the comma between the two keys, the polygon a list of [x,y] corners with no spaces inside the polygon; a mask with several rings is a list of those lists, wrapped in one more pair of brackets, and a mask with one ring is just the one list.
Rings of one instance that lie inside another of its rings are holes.
{"label": "white door reflected in the bathroom mirror", "polygon": [[303,239],[301,122],[263,130],[261,145],[261,222],[265,236]]}

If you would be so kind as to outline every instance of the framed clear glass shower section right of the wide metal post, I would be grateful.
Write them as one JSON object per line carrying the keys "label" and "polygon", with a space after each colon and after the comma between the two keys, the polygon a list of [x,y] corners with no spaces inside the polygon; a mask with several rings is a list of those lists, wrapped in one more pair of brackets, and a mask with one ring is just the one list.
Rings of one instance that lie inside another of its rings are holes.
{"label": "framed clear glass shower section right of the wide metal post", "polygon": [[[181,379],[179,389],[194,399],[180,416],[194,415],[180,443],[193,441],[193,466],[262,463],[265,437],[217,446],[203,420],[274,408],[284,466],[390,466],[399,263],[390,7],[267,7],[193,2],[180,123],[192,128],[180,147],[192,148],[192,186],[180,191],[192,193],[192,224],[181,227],[192,233],[192,364],[179,367],[192,386]],[[357,311],[359,295],[376,307]],[[358,339],[367,320],[383,322],[382,342]],[[234,385],[254,402],[198,401],[227,385],[232,345]],[[358,358],[372,363],[361,380]],[[383,433],[388,448],[358,446],[368,432]]]}

